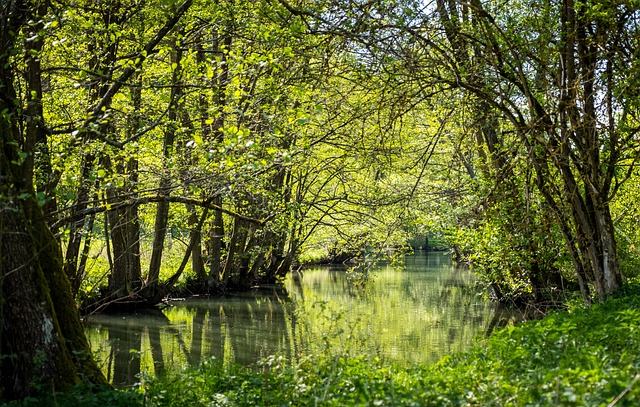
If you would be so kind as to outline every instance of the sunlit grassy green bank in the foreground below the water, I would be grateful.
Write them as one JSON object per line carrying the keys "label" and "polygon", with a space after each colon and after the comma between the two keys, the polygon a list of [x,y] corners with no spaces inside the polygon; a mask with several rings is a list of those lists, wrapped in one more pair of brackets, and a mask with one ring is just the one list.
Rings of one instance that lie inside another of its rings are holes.
{"label": "sunlit grassy green bank in the foreground below the water", "polygon": [[[636,282],[601,304],[496,331],[432,366],[400,369],[348,354],[293,364],[271,357],[255,370],[209,361],[177,376],[142,380],[139,393],[85,396],[83,405],[631,406],[640,404],[638,349]],[[49,405],[79,405],[74,397],[60,395]]]}

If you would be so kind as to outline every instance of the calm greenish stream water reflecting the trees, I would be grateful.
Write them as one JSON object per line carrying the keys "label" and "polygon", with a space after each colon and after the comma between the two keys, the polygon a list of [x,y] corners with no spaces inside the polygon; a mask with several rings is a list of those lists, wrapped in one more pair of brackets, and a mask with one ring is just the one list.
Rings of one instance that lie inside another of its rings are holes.
{"label": "calm greenish stream water reflecting the trees", "polygon": [[[368,274],[316,267],[285,287],[223,299],[175,301],[161,312],[98,315],[86,331],[115,385],[215,357],[252,365],[279,354],[350,351],[410,365],[467,349],[501,314],[472,288],[473,276],[442,253],[407,256],[406,268]],[[366,283],[365,283],[366,281]]]}

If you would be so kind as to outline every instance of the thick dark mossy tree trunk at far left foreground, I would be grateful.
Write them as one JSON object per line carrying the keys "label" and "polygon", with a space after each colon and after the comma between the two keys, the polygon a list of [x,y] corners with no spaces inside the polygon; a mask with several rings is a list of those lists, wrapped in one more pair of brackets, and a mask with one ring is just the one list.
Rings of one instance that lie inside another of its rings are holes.
{"label": "thick dark mossy tree trunk at far left foreground", "polygon": [[38,2],[3,2],[0,17],[0,399],[34,384],[64,390],[105,383],[92,361],[64,273],[62,251],[45,221],[30,175],[35,140],[24,137],[14,87],[16,38]]}

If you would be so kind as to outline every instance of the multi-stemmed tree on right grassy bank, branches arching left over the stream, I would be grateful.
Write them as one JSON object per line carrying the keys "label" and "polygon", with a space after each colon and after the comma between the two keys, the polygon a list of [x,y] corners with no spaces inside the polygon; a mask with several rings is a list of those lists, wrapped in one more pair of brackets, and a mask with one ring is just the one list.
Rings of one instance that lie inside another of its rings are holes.
{"label": "multi-stemmed tree on right grassy bank, branches arching left over the stream", "polygon": [[280,3],[406,75],[423,100],[475,99],[471,115],[482,119],[490,161],[500,165],[506,150],[496,142],[516,136],[514,157],[534,171],[585,300],[592,289],[602,297],[621,286],[609,203],[639,151],[635,4]]}

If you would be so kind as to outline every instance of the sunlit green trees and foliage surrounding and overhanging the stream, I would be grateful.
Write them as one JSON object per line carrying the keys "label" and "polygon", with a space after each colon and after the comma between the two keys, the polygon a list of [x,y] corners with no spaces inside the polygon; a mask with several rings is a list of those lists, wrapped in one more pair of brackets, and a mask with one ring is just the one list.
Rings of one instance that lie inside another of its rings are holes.
{"label": "sunlit green trees and foliage surrounding and overhanging the stream", "polygon": [[0,395],[104,381],[78,304],[247,290],[416,236],[502,302],[620,290],[640,263],[638,10],[1,2]]}

